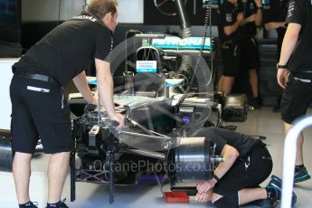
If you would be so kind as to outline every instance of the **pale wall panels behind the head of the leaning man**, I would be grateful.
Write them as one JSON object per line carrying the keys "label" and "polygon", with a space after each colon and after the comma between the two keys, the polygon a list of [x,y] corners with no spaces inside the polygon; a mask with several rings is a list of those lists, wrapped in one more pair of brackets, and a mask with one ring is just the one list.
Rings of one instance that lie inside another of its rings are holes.
{"label": "pale wall panels behind the head of the leaning man", "polygon": [[[144,0],[118,0],[120,24],[143,24]],[[85,0],[61,0],[61,21],[80,14]],[[89,2],[89,1],[87,1]],[[44,22],[57,21],[60,0],[23,0],[22,21]]]}

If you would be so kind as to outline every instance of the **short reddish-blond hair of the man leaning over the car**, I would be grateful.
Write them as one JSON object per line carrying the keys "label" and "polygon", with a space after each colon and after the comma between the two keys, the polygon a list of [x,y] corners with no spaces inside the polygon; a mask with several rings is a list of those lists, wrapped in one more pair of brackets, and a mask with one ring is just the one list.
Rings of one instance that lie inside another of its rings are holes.
{"label": "short reddish-blond hair of the man leaning over the car", "polygon": [[87,11],[100,19],[106,14],[117,13],[117,0],[91,0]]}

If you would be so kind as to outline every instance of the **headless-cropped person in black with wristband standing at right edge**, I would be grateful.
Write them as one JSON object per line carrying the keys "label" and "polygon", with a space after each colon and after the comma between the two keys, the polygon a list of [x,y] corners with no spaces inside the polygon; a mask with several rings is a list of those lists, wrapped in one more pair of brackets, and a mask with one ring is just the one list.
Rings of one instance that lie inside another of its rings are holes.
{"label": "headless-cropped person in black with wristband standing at right edge", "polygon": [[[290,1],[286,24],[288,28],[281,49],[277,79],[279,86],[284,89],[280,110],[285,131],[288,132],[292,122],[307,113],[312,101],[312,2]],[[301,133],[297,143],[295,184],[310,178],[303,163],[303,140]]]}

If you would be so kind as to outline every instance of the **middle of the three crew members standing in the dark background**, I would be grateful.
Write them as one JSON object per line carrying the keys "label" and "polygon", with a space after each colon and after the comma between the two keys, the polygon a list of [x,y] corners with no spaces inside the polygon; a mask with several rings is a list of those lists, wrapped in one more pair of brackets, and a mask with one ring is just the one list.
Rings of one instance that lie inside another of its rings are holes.
{"label": "middle of the three crew members standing in the dark background", "polygon": [[250,99],[250,105],[255,109],[260,108],[258,69],[259,49],[255,39],[257,27],[262,22],[261,0],[242,0],[242,9],[245,19],[241,22],[243,38],[241,42],[241,65],[243,69],[249,70],[249,80],[253,98]]}

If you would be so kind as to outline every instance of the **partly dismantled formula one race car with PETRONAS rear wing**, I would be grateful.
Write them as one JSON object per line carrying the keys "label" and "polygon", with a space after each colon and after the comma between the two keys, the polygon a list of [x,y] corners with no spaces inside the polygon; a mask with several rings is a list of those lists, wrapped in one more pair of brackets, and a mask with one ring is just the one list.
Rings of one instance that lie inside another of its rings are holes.
{"label": "partly dismantled formula one race car with PETRONAS rear wing", "polygon": [[[215,47],[206,44],[212,40],[202,43],[205,37],[188,38],[182,41],[184,46],[197,43],[198,47],[168,51],[164,43],[172,43],[172,37],[161,41],[154,40],[153,34],[142,34],[139,38],[153,44],[139,47],[136,68],[126,68],[124,76],[114,80],[116,110],[127,118],[122,131],[115,130],[116,124],[100,106],[90,108],[79,94],[70,95],[71,111],[78,116],[73,121],[76,148],[71,156],[71,201],[76,182],[109,184],[109,202],[113,203],[114,185],[137,184],[140,175],[165,175],[171,189],[180,182],[207,180],[220,158],[213,156],[208,138],[194,138],[192,133],[219,127],[222,118],[244,121],[247,117],[244,96],[213,93],[213,72],[202,56],[203,52],[213,56]],[[178,64],[179,52],[188,56],[182,71],[170,67]],[[189,67],[191,63],[194,68]],[[199,170],[198,166],[185,168],[192,163],[200,165]]]}

